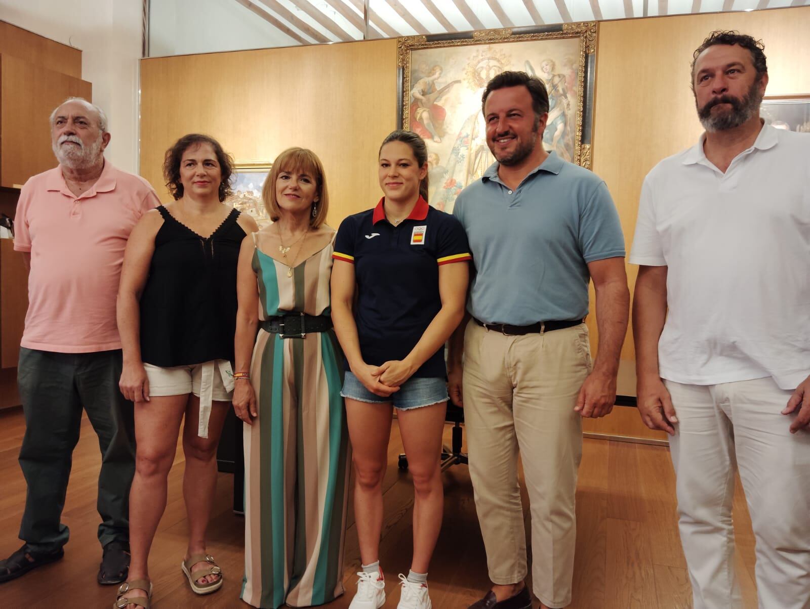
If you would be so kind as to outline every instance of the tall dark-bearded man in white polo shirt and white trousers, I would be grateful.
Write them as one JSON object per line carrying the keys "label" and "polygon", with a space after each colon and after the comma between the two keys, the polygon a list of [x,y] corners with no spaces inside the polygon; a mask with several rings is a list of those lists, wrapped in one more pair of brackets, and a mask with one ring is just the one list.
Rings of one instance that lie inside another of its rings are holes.
{"label": "tall dark-bearded man in white polo shirt and white trousers", "polygon": [[694,607],[739,607],[731,501],[757,538],[760,607],[810,607],[810,135],[765,125],[761,42],[713,32],[706,129],[644,181],[629,262],[638,410],[671,435]]}

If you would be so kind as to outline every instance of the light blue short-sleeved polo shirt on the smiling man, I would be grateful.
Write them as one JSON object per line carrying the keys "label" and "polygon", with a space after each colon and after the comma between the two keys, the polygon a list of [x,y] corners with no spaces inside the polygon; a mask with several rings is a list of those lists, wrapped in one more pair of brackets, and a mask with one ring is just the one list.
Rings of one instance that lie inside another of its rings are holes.
{"label": "light blue short-sleeved polo shirt on the smiling man", "polygon": [[467,310],[485,323],[528,326],[588,313],[587,263],[625,255],[608,187],[552,152],[509,190],[498,163],[455,200],[475,274]]}

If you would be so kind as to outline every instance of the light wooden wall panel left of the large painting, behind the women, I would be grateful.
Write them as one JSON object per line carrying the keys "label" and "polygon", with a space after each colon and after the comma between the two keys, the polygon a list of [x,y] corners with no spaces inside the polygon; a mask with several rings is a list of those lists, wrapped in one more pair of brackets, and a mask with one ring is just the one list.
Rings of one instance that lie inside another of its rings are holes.
{"label": "light wooden wall panel left of the large painting, behind the women", "polygon": [[169,200],[160,166],[181,135],[211,134],[237,160],[287,147],[321,157],[328,224],[373,207],[377,149],[396,128],[396,40],[141,61],[140,171]]}

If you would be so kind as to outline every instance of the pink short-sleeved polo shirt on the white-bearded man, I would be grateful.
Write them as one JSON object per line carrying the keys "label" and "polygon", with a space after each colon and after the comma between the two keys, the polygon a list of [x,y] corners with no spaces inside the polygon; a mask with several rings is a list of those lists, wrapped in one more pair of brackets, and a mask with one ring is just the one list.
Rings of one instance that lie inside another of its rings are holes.
{"label": "pink short-sleeved polo shirt on the white-bearded man", "polygon": [[115,300],[126,240],[157,205],[149,182],[109,161],[78,197],[60,167],[23,185],[14,237],[14,249],[31,252],[22,347],[59,353],[121,348]]}

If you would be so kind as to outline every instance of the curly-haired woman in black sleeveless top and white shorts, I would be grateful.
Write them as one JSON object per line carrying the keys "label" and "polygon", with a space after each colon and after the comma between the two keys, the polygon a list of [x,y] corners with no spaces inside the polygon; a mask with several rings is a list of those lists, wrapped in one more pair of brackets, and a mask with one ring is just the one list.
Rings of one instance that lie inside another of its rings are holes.
{"label": "curly-haired woman in black sleeveless top and white shorts", "polygon": [[[147,559],[166,506],[168,471],[185,416],[183,495],[190,539],[181,569],[197,594],[222,586],[207,552],[216,447],[233,388],[231,361],[241,242],[258,227],[223,203],[233,166],[215,139],[190,134],[166,152],[175,201],[150,211],[126,246],[118,292],[122,393],[135,402],[129,586],[118,606],[148,607]],[[123,604],[123,598],[132,602]]]}

